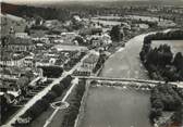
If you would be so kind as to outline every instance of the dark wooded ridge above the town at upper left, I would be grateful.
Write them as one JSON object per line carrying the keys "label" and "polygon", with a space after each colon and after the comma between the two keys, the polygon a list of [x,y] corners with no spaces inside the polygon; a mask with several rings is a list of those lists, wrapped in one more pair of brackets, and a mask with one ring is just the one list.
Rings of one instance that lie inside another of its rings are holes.
{"label": "dark wooded ridge above the town at upper left", "polygon": [[42,17],[44,20],[59,20],[64,22],[70,20],[71,14],[69,10],[53,9],[53,8],[40,8],[29,5],[16,5],[10,3],[1,3],[2,13],[13,14],[16,16],[30,18],[30,17]]}

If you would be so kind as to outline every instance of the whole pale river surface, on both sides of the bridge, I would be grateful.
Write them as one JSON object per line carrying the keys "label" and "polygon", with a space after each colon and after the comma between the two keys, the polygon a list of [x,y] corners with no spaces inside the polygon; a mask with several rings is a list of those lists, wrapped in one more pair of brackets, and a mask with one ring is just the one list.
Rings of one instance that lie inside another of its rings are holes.
{"label": "whole pale river surface, on both sides of the bridge", "polygon": [[[139,61],[145,35],[131,39],[105,63],[102,77],[148,79]],[[150,127],[149,92],[110,87],[90,88],[81,127]]]}

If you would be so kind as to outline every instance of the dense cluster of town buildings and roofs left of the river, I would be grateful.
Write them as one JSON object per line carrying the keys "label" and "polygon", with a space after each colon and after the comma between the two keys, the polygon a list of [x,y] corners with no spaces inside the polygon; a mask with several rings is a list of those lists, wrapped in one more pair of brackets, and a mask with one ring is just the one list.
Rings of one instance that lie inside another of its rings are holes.
{"label": "dense cluster of town buildings and roofs left of the river", "polygon": [[[36,25],[34,18],[26,21],[26,27],[29,33],[25,30],[17,30],[15,26],[9,28],[9,33],[1,37],[0,41],[0,96],[10,97],[14,99],[24,98],[26,91],[30,86],[35,86],[37,80],[47,79],[44,77],[44,67],[60,67],[63,71],[72,68],[81,61],[83,54],[90,53],[89,56],[82,61],[82,64],[74,72],[75,75],[91,75],[98,59],[99,51],[108,50],[112,43],[110,36],[103,31],[102,27],[95,23],[88,23],[74,16],[74,22],[84,24],[84,28],[78,30],[64,30],[60,33],[63,27],[57,20],[42,21],[40,20],[38,26],[47,27],[48,30],[42,36],[32,34],[32,26]],[[69,27],[73,25],[71,21],[64,25]],[[25,27],[24,27],[25,28]],[[59,31],[59,33],[50,33]],[[87,29],[87,33],[85,30]],[[39,33],[42,29],[34,29]],[[84,31],[82,34],[82,31]],[[88,51],[93,49],[93,51]],[[64,68],[65,67],[65,68]],[[29,92],[27,92],[29,93]],[[8,96],[9,94],[9,96]],[[17,100],[16,100],[17,101]],[[15,101],[15,102],[16,102]],[[11,104],[16,104],[10,102]]]}

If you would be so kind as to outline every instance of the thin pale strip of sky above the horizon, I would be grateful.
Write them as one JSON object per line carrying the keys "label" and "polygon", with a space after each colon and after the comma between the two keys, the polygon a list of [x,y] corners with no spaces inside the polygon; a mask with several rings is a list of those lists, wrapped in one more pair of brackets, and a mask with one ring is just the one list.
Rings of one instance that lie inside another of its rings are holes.
{"label": "thin pale strip of sky above the horizon", "polygon": [[51,2],[65,2],[65,1],[182,1],[183,0],[0,0],[2,2],[8,3],[23,3],[23,4],[29,4],[29,3],[51,3]]}

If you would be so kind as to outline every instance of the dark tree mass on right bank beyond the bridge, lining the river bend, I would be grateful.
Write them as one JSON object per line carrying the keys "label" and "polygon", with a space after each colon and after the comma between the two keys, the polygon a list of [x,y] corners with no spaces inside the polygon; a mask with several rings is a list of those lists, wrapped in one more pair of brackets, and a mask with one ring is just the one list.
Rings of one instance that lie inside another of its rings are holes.
{"label": "dark tree mass on right bank beyond the bridge, lining the river bend", "polygon": [[181,30],[169,31],[167,34],[157,33],[145,37],[139,55],[145,67],[149,72],[150,78],[171,81],[183,80],[182,53],[178,52],[174,55],[168,45],[160,45],[158,48],[151,48],[151,40],[181,39],[182,37],[183,33]]}

